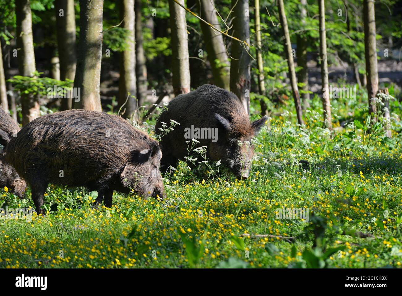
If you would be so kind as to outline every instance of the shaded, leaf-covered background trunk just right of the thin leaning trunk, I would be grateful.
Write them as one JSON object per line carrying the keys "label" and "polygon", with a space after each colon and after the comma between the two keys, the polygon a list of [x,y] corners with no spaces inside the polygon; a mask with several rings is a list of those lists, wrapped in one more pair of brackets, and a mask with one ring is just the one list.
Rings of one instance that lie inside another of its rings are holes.
{"label": "shaded, leaf-covered background trunk just right of the thin leaning trunk", "polygon": [[[300,17],[301,23],[306,24],[307,17],[307,0],[301,0]],[[303,110],[310,107],[310,94],[308,93],[308,68],[307,68],[307,35],[305,33],[299,33],[297,35],[297,66],[301,67],[297,72],[297,81],[303,83],[303,93],[301,94],[301,102]]]}

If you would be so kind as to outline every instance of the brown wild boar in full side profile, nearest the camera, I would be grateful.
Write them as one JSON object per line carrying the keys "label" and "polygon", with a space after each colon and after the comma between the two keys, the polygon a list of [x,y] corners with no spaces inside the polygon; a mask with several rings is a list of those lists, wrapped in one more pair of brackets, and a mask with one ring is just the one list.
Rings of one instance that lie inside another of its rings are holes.
{"label": "brown wild boar in full side profile, nearest the camera", "polygon": [[165,196],[158,141],[116,115],[68,110],[34,119],[6,146],[6,160],[31,185],[37,213],[44,213],[49,183],[85,186],[112,206],[113,191],[134,189]]}

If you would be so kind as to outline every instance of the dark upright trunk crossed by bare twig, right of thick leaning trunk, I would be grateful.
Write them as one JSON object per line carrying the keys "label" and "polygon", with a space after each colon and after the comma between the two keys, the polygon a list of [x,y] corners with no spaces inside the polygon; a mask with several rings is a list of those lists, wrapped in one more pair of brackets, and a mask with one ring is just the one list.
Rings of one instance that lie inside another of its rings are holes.
{"label": "dark upright trunk crossed by bare twig, right of thick leaning trunk", "polygon": [[[237,4],[236,4],[237,2]],[[250,16],[248,0],[232,0],[234,7],[233,36],[250,44]],[[237,95],[250,114],[250,47],[233,41],[230,60],[230,90]]]}

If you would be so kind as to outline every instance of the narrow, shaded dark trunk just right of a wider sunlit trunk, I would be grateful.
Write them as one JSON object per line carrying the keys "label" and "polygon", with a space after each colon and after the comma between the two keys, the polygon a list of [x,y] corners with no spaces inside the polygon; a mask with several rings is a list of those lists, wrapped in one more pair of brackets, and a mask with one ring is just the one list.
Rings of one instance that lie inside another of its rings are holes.
{"label": "narrow, shaded dark trunk just right of a wider sunlit trunk", "polygon": [[147,67],[144,54],[144,38],[142,37],[141,0],[135,0],[135,73],[137,74],[137,101],[141,106],[147,95]]}

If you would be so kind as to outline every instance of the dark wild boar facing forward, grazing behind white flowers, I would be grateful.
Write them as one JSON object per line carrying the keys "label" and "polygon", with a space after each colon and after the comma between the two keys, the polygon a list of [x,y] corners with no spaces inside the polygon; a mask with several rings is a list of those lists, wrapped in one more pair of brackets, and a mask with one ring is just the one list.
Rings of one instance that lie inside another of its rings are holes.
{"label": "dark wild boar facing forward, grazing behind white flowers", "polygon": [[[170,120],[180,125],[167,134],[161,132],[165,123],[169,127]],[[179,95],[162,111],[155,125],[156,134],[162,136],[161,166],[166,170],[168,166],[176,166],[178,160],[185,160],[191,146],[186,141],[195,138],[200,142],[195,148],[207,146],[210,160],[221,160],[236,177],[246,179],[254,154],[251,139],[266,120],[264,116],[250,122],[236,95],[214,85],[205,84]]]}

